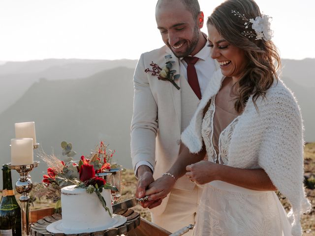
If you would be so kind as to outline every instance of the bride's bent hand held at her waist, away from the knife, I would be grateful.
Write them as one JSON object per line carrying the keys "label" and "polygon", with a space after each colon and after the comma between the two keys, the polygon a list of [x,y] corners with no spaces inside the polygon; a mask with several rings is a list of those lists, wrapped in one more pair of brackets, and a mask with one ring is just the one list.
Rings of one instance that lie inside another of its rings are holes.
{"label": "bride's bent hand held at her waist, away from the knife", "polygon": [[188,171],[186,176],[197,184],[210,183],[211,181],[218,180],[219,169],[219,164],[210,161],[199,161],[186,167]]}

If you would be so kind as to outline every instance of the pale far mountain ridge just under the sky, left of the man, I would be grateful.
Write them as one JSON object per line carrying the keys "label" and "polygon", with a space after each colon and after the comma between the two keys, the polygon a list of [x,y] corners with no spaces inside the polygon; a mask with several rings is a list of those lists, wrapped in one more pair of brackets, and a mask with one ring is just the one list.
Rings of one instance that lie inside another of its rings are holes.
{"label": "pale far mountain ridge just under the sky, left of the man", "polygon": [[20,98],[40,78],[79,79],[119,66],[135,68],[137,60],[46,59],[6,62],[0,65],[0,113]]}

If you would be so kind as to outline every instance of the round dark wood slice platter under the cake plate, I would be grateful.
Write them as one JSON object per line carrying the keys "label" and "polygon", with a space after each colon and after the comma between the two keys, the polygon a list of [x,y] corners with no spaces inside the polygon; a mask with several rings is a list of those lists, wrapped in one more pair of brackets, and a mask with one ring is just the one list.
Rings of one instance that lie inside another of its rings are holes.
{"label": "round dark wood slice platter under the cake plate", "polygon": [[[118,213],[125,216],[127,221],[125,224],[118,228],[108,229],[104,231],[98,231],[93,233],[73,234],[66,236],[118,236],[126,234],[129,231],[135,229],[140,224],[140,214],[132,209],[124,210]],[[46,230],[46,227],[51,223],[61,220],[61,214],[53,214],[51,216],[45,216],[43,219],[38,220],[31,225],[31,236],[65,236],[65,234],[52,234]]]}

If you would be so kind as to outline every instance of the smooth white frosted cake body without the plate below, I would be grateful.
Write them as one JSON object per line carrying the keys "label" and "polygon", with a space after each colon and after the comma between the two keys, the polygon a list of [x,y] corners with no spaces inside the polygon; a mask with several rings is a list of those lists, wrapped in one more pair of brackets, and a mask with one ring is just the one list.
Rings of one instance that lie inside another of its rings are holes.
{"label": "smooth white frosted cake body without the plate below", "polygon": [[[107,225],[113,221],[108,211],[102,206],[95,193],[89,194],[76,185],[61,189],[62,226],[64,229],[93,229]],[[103,189],[101,195],[106,206],[113,212],[111,193]]]}

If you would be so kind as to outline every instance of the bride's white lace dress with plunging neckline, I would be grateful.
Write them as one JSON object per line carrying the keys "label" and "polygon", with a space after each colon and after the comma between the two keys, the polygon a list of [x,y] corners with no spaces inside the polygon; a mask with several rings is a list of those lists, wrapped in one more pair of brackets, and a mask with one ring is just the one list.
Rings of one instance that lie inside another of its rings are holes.
{"label": "bride's white lace dress with plunging neckline", "polygon": [[[239,117],[221,132],[217,154],[213,144],[215,109],[213,97],[201,133],[208,161],[228,165],[228,148]],[[290,232],[291,226],[275,192],[254,191],[222,181],[204,185],[194,236],[291,236]]]}

